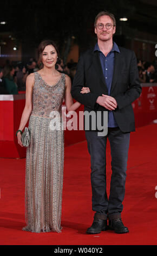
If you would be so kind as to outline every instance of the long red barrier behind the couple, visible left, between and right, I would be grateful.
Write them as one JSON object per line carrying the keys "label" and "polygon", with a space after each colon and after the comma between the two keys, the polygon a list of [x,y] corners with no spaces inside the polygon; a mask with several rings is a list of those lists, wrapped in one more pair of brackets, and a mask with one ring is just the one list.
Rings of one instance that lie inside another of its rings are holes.
{"label": "long red barrier behind the couple, visible left, between and right", "polygon": [[[142,84],[142,93],[139,99],[132,103],[135,113],[136,127],[147,125],[157,119],[157,84]],[[22,112],[25,105],[25,94],[0,95],[0,157],[22,158],[26,149],[17,143],[16,131],[19,127]],[[77,109],[77,124],[79,114],[83,106]],[[73,118],[73,116],[71,117]],[[67,121],[69,118],[67,118]],[[28,124],[26,125],[28,126]],[[77,125],[78,127],[78,125]],[[78,143],[86,139],[83,130],[66,129],[64,131],[64,144]]]}

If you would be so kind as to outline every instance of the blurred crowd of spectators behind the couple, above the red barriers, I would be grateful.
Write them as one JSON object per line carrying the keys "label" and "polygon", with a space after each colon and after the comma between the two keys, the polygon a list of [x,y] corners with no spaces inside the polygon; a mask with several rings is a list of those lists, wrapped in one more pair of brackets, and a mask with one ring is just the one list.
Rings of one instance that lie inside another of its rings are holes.
{"label": "blurred crowd of spectators behind the couple, above the red barriers", "polygon": [[[56,69],[70,76],[71,83],[76,73],[77,63],[73,59],[67,64],[59,60]],[[25,81],[27,76],[39,70],[34,58],[30,58],[27,64],[22,62],[10,63],[6,60],[3,68],[0,67],[0,94],[18,94],[25,91]],[[154,63],[144,62],[138,59],[139,79],[141,83],[157,83],[157,60]]]}

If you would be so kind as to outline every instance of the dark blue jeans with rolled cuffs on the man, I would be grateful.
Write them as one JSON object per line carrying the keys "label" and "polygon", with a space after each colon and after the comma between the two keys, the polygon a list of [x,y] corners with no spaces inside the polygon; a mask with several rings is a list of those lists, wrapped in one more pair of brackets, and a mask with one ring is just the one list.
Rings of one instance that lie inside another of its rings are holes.
{"label": "dark blue jeans with rolled cuffs on the man", "polygon": [[[110,194],[106,192],[106,144],[110,143],[112,177]],[[97,136],[97,131],[86,131],[88,151],[91,157],[92,209],[110,220],[121,217],[128,160],[130,133],[119,127],[108,128],[107,136]]]}

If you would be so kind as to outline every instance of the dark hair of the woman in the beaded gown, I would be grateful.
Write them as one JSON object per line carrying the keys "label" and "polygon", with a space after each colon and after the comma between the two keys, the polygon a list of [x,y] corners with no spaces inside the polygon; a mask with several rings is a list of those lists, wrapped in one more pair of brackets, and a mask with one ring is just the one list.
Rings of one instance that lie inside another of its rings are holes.
{"label": "dark hair of the woman in the beaded gown", "polygon": [[43,68],[42,53],[43,53],[44,48],[45,48],[47,45],[53,45],[54,48],[56,49],[58,58],[60,58],[60,53],[59,53],[59,51],[58,51],[58,48],[57,48],[55,42],[54,42],[53,40],[43,40],[43,41],[40,43],[40,45],[38,46],[38,48],[37,48],[37,64],[38,64],[38,66],[40,67],[40,69]]}

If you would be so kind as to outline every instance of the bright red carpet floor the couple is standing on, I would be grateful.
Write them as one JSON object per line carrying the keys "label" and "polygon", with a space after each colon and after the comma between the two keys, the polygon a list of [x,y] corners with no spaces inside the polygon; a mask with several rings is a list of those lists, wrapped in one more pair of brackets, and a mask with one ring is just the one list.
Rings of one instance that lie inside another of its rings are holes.
{"label": "bright red carpet floor the couple is standing on", "polygon": [[[93,222],[91,210],[90,158],[87,143],[65,149],[62,204],[62,233],[35,234],[23,231],[25,159],[0,159],[1,245],[157,245],[157,125],[131,133],[122,220],[127,234],[102,231],[87,235]],[[107,183],[110,182],[110,153],[107,150]],[[109,194],[109,192],[108,192]]]}

